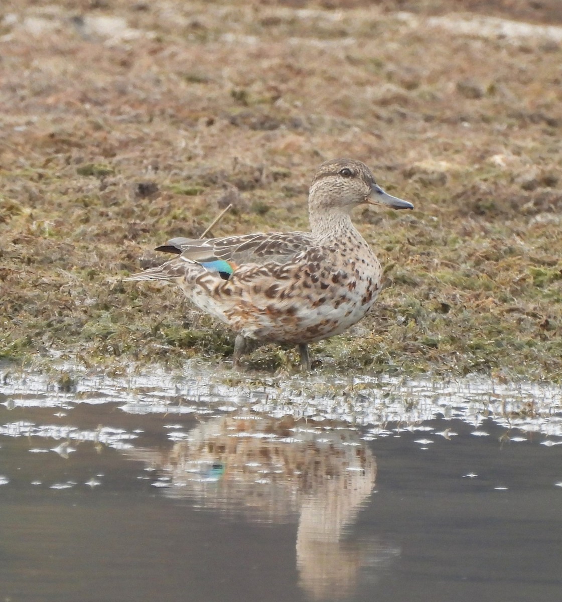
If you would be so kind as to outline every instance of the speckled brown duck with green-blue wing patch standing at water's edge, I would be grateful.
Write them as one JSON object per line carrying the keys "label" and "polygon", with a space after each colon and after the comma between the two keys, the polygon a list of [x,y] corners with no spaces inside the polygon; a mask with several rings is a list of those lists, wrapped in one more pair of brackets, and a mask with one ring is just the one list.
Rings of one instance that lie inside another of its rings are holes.
{"label": "speckled brown duck with green-blue wing patch standing at water's edge", "polygon": [[309,344],[356,324],[381,290],[381,264],[351,221],[365,204],[414,208],[386,193],[361,161],[325,161],[308,194],[310,232],[172,238],[156,250],[174,258],[125,280],[175,283],[236,334],[234,367],[258,341],[298,347],[310,371]]}

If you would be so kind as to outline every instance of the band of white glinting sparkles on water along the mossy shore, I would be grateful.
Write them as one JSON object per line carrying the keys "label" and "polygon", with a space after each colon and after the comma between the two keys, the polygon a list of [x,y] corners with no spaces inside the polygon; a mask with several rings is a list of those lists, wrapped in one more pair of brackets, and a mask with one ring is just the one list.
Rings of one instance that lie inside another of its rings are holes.
{"label": "band of white glinting sparkles on water along the mossy shore", "polygon": [[[393,379],[389,377],[257,377],[242,376],[234,385],[227,371],[210,372],[201,368],[186,376],[154,368],[147,373],[119,377],[107,374],[75,374],[77,385],[61,391],[57,377],[28,373],[7,373],[0,389],[7,409],[72,409],[76,403],[104,404],[117,402],[128,414],[216,414],[236,412],[239,408],[272,417],[290,415],[295,419],[341,420],[349,424],[373,425],[369,432],[388,436],[384,426],[397,423],[398,429],[434,430],[423,426],[433,418],[458,419],[475,427],[474,436],[489,433],[482,425],[492,420],[507,429],[522,433],[539,433],[552,444],[562,442],[562,395],[560,388],[537,383],[495,382],[488,379],[432,380]],[[61,418],[66,414],[54,414]],[[166,426],[181,429],[182,424]],[[50,436],[53,439],[99,441],[123,447],[136,433],[109,426],[98,430],[80,430],[73,426],[37,425],[17,421],[2,425],[0,434],[13,436]],[[170,435],[182,436],[178,433]],[[443,433],[442,436],[450,436]],[[519,436],[512,441],[522,441]],[[132,447],[132,445],[131,445]]]}

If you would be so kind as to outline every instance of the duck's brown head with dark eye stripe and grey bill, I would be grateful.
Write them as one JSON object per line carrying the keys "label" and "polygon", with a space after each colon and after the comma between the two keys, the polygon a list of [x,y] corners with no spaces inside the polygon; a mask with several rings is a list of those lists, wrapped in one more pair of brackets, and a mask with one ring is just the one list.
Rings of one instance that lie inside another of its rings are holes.
{"label": "duck's brown head with dark eye stripe and grey bill", "polygon": [[312,181],[308,202],[312,211],[340,209],[346,213],[363,203],[387,205],[393,209],[414,208],[407,200],[382,190],[369,167],[352,159],[322,163]]}

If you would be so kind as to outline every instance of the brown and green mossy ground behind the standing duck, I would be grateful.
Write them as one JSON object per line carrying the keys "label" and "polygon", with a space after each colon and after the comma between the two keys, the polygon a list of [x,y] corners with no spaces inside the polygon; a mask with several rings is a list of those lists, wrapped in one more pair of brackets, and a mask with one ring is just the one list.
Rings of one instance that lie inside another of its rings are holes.
{"label": "brown and green mossy ground behind the standing duck", "polygon": [[560,42],[425,19],[555,3],[78,4],[0,9],[1,357],[228,357],[175,288],[123,276],[229,202],[215,235],[306,229],[317,165],[352,157],[416,209],[355,215],[386,288],[323,369],[562,378]]}

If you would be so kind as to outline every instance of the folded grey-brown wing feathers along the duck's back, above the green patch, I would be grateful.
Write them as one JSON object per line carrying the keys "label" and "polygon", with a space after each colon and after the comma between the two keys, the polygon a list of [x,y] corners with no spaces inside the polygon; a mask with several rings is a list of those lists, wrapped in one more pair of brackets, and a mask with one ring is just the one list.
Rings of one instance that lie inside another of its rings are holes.
{"label": "folded grey-brown wing feathers along the duck's back, above the green patch", "polygon": [[310,232],[271,232],[220,238],[172,238],[157,251],[176,253],[184,259],[207,263],[223,259],[236,265],[284,263],[313,246]]}

